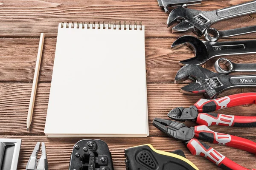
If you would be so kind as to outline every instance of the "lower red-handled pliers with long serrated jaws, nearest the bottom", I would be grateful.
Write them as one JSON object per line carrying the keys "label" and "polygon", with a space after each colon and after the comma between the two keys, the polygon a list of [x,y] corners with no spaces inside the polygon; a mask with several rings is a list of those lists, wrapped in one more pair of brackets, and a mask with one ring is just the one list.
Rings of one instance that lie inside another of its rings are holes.
{"label": "lower red-handled pliers with long serrated jaws, nearest the bottom", "polygon": [[194,137],[206,142],[224,144],[256,154],[255,142],[237,136],[214,132],[205,125],[189,128],[183,123],[159,118],[153,120],[153,125],[168,136],[185,142],[187,148],[193,155],[203,156],[224,170],[248,169],[236,164],[207,144],[194,139]]}

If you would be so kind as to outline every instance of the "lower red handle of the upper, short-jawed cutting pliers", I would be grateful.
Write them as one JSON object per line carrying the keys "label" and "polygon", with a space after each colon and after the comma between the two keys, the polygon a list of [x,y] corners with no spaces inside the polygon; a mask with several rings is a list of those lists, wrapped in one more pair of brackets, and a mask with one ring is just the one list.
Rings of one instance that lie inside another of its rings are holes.
{"label": "lower red handle of the upper, short-jawed cutting pliers", "polygon": [[217,113],[198,113],[198,125],[234,127],[256,127],[256,116],[233,116]]}

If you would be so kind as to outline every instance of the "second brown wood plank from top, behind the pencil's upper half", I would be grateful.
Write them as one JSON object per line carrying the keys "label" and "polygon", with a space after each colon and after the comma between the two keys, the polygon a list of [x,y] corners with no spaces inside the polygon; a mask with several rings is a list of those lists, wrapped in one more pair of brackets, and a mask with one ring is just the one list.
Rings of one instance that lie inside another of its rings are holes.
{"label": "second brown wood plank from top, behind the pencil's upper half", "polygon": [[[171,50],[175,39],[146,39],[147,82],[174,82],[180,69],[178,62],[194,57],[192,50],[181,47]],[[32,82],[39,38],[0,38],[0,82]],[[46,38],[41,63],[39,82],[51,82],[55,56],[56,38]],[[232,62],[253,63],[255,54],[226,56]],[[207,62],[205,67],[215,71],[214,62]],[[245,74],[245,73],[240,73]],[[253,73],[248,73],[253,74]],[[235,74],[234,74],[235,75]]]}

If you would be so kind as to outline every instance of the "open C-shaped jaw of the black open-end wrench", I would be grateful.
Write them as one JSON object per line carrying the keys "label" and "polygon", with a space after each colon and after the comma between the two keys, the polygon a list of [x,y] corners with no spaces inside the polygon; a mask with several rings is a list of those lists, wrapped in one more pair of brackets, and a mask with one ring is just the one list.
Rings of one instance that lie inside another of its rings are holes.
{"label": "open C-shaped jaw of the black open-end wrench", "polygon": [[196,37],[185,35],[173,42],[172,49],[180,48],[181,46],[186,45],[194,52],[195,57],[180,61],[180,65],[202,65],[209,60],[207,46],[204,43],[204,41],[201,41]]}

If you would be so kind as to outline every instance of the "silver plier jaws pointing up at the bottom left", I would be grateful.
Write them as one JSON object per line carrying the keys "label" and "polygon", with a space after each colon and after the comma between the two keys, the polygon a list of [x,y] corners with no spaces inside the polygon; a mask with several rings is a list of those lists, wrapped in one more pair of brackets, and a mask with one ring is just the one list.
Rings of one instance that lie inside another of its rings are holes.
{"label": "silver plier jaws pointing up at the bottom left", "polygon": [[[40,147],[42,150],[41,158],[37,159]],[[37,142],[37,144],[35,145],[35,148],[26,165],[26,170],[48,170],[48,161],[44,142],[42,142],[42,145],[40,142]]]}

